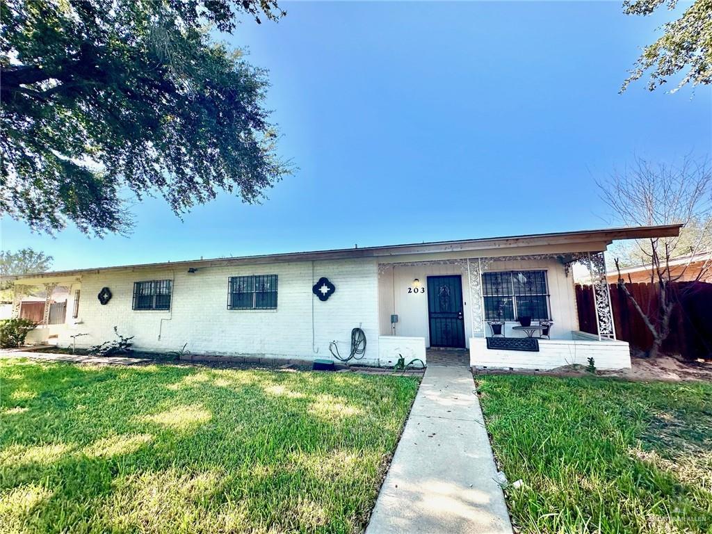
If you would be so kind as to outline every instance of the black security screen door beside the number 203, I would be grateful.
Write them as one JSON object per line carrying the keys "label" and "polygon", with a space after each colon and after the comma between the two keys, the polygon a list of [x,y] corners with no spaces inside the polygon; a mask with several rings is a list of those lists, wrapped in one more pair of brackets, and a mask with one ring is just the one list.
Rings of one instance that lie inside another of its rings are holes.
{"label": "black security screen door beside the number 203", "polygon": [[459,276],[428,277],[431,347],[464,347],[462,281]]}

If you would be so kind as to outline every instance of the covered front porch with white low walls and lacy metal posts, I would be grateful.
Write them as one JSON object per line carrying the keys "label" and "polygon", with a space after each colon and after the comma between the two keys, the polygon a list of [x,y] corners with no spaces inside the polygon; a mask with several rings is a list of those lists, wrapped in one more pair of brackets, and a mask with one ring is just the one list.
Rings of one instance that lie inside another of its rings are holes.
{"label": "covered front porch with white low walls and lacy metal posts", "polygon": [[[467,354],[466,365],[473,367],[548,370],[587,365],[590,358],[600,369],[630,367],[627,342],[615,339],[600,248],[508,252],[379,263],[379,343],[406,362],[408,355],[424,355],[428,365],[457,365],[458,355]],[[598,335],[579,330],[574,263],[596,282]],[[496,323],[502,325],[499,338],[526,337],[518,328],[523,315],[535,326],[553,322],[549,330],[535,330],[531,352],[487,347]]]}

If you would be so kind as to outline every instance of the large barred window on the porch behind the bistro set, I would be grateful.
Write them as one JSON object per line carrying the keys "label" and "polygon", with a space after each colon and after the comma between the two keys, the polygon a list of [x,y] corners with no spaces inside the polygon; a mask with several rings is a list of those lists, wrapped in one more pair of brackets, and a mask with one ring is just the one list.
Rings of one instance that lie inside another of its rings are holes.
{"label": "large barred window on the porch behind the bistro set", "polygon": [[485,320],[550,319],[546,271],[483,273],[482,295]]}

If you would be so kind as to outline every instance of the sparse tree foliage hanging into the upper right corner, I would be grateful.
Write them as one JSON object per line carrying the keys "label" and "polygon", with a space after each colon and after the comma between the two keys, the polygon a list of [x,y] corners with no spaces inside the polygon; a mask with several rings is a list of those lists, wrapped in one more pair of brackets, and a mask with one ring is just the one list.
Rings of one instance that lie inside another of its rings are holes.
{"label": "sparse tree foliage hanging into the upper right corner", "polygon": [[[628,15],[649,15],[662,4],[675,9],[677,1],[625,0],[623,9]],[[650,71],[649,90],[685,69],[678,88],[686,83],[712,83],[712,0],[694,1],[679,19],[664,24],[663,29],[663,35],[644,48],[622,90],[646,71]]]}

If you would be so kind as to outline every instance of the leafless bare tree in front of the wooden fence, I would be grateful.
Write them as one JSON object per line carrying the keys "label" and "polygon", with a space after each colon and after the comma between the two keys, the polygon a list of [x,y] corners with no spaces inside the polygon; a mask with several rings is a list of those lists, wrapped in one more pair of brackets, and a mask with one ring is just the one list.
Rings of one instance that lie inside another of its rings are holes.
{"label": "leafless bare tree in front of the wooden fence", "polygon": [[[670,333],[670,318],[677,300],[671,283],[679,281],[689,262],[671,271],[670,260],[684,254],[702,251],[712,232],[712,174],[708,162],[685,157],[678,166],[654,164],[637,157],[622,172],[614,172],[609,179],[597,182],[601,197],[626,226],[657,224],[699,224],[703,227],[690,242],[680,237],[641,239],[636,241],[636,256],[650,266],[650,282],[656,289],[654,306],[639,303],[629,292],[620,273],[619,259],[615,259],[618,286],[631,301],[653,337],[649,357],[656,357],[662,342]],[[683,251],[684,248],[684,251]],[[678,250],[680,249],[680,250]],[[698,280],[710,260],[696,274]],[[645,306],[646,309],[643,309]]]}

